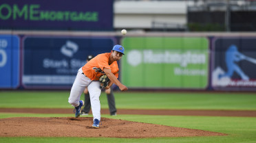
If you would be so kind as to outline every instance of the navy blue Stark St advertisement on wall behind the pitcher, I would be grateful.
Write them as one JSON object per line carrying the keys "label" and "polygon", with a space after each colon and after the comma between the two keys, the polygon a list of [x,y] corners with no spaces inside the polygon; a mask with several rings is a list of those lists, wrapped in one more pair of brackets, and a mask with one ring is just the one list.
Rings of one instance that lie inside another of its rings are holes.
{"label": "navy blue Stark St advertisement on wall behind the pitcher", "polygon": [[114,43],[114,38],[25,37],[23,86],[71,88],[87,56],[108,53]]}

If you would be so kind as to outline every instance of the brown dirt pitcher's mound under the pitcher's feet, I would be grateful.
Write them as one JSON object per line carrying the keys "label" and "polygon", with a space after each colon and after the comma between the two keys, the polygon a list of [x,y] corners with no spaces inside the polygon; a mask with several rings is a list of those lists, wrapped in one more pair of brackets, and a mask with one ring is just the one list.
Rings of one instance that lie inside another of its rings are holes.
{"label": "brown dirt pitcher's mound under the pitcher's feet", "polygon": [[99,129],[92,128],[92,117],[80,118],[2,118],[0,136],[154,138],[225,135],[142,122],[101,118]]}

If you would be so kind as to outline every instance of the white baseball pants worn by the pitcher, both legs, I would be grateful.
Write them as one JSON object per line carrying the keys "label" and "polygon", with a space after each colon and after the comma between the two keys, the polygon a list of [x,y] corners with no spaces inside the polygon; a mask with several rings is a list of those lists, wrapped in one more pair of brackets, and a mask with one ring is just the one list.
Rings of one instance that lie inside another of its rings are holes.
{"label": "white baseball pants worn by the pitcher, both legs", "polygon": [[92,115],[94,119],[100,120],[100,82],[99,81],[92,81],[85,75],[83,75],[83,70],[80,68],[76,75],[76,79],[73,83],[73,86],[70,91],[70,97],[68,102],[77,107],[79,105],[81,94],[83,94],[83,90],[87,86],[89,91],[89,97],[91,100],[92,105]]}

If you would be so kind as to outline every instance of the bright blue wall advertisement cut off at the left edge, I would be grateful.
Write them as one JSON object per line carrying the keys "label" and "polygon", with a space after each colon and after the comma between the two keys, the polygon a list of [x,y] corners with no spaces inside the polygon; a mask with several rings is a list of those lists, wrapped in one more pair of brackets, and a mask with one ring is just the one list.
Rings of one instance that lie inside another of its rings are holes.
{"label": "bright blue wall advertisement cut off at the left edge", "polygon": [[0,35],[0,88],[19,86],[19,37]]}

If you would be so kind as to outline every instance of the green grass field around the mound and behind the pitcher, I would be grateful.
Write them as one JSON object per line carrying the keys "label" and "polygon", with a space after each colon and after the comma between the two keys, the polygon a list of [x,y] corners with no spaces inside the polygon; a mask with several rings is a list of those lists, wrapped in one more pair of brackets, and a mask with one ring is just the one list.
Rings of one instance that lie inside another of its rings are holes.
{"label": "green grass field around the mound and behind the pitcher", "polygon": [[[0,92],[0,107],[29,108],[72,108],[67,103],[69,92]],[[116,92],[118,109],[239,109],[256,110],[255,93],[199,93],[199,92]],[[83,98],[82,98],[83,99]],[[102,108],[107,109],[105,94],[100,96]],[[74,116],[73,114],[11,114],[0,113],[0,118],[11,117],[57,117]],[[227,133],[226,136],[186,137],[186,138],[3,138],[0,142],[256,142],[256,118],[220,117],[220,116],[149,116],[120,115],[102,117],[147,122],[173,127],[202,129]]]}

